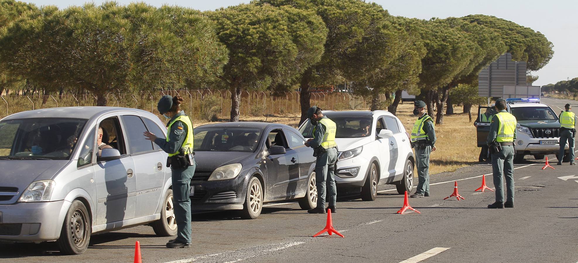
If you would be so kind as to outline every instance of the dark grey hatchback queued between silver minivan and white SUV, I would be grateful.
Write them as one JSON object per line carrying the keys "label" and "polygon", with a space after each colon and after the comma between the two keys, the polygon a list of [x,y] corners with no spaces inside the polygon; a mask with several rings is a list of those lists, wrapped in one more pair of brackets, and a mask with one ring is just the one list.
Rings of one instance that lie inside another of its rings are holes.
{"label": "dark grey hatchback queued between silver minivan and white SUV", "polygon": [[227,122],[194,129],[197,169],[192,209],[238,209],[255,219],[266,202],[298,199],[317,205],[315,157],[293,127],[268,122]]}

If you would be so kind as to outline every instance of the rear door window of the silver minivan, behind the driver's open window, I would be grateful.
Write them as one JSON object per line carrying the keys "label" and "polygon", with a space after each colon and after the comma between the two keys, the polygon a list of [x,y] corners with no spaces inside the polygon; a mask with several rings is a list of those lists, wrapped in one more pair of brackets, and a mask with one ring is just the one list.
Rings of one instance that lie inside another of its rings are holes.
{"label": "rear door window of the silver minivan, behind the driver's open window", "polygon": [[153,143],[144,140],[143,132],[147,129],[140,117],[135,115],[123,115],[124,132],[127,134],[128,148],[132,155],[153,151]]}

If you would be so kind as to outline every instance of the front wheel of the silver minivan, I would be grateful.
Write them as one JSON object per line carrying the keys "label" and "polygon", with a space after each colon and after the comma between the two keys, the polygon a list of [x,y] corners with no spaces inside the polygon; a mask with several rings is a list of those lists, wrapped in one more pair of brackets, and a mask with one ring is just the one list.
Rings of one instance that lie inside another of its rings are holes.
{"label": "front wheel of the silver minivan", "polygon": [[92,234],[92,224],[86,206],[79,200],[72,201],[66,212],[60,238],[56,241],[60,251],[65,254],[82,254],[88,248]]}

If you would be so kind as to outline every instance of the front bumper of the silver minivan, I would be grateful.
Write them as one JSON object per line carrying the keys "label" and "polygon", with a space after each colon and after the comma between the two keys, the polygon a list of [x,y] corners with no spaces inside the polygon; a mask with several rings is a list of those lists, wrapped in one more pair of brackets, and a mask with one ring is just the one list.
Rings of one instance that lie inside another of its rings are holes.
{"label": "front bumper of the silver minivan", "polygon": [[0,240],[54,241],[60,237],[71,202],[30,202],[0,205]]}

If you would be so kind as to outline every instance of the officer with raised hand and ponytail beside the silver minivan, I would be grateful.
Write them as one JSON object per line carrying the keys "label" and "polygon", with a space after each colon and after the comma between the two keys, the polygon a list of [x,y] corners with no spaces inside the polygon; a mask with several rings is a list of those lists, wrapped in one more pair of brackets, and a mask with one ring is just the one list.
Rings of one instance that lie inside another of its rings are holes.
{"label": "officer with raised hand and ponytail beside the silver minivan", "polygon": [[192,157],[193,133],[192,122],[181,110],[183,97],[169,95],[161,97],[157,109],[166,119],[167,138],[158,138],[150,132],[144,132],[147,140],[153,141],[169,154],[167,167],[171,166],[173,183],[173,204],[177,237],[169,240],[166,247],[176,249],[191,246],[191,199],[189,187],[195,173],[195,161]]}

